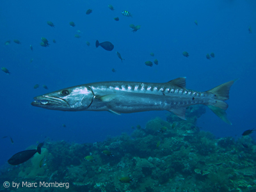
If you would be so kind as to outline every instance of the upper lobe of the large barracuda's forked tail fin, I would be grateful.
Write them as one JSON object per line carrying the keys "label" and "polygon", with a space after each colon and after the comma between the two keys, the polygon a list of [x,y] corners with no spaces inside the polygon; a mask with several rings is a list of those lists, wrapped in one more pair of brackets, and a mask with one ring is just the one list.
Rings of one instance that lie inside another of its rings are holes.
{"label": "upper lobe of the large barracuda's forked tail fin", "polygon": [[235,83],[235,81],[237,81],[237,79],[228,81],[227,83],[220,84],[219,86],[216,86],[207,92],[216,95],[216,99],[228,100],[229,99],[228,93],[229,93],[230,87],[232,86],[232,84]]}

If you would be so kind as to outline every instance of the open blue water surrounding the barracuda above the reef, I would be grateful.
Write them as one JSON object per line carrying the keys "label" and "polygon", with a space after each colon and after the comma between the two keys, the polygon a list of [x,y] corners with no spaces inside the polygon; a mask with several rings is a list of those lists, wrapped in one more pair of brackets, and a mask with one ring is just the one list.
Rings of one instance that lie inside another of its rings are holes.
{"label": "open blue water surrounding the barracuda above the reef", "polygon": [[[108,4],[115,11],[109,10]],[[86,15],[89,8],[93,12]],[[133,17],[124,17],[124,10]],[[114,17],[120,20],[116,22]],[[47,25],[48,20],[55,28]],[[70,27],[70,21],[76,27]],[[141,25],[141,29],[132,33],[129,24]],[[248,31],[250,26],[252,33]],[[132,125],[145,127],[148,120],[156,116],[165,119],[165,114],[170,113],[149,111],[118,116],[108,112],[51,111],[30,104],[35,96],[97,81],[163,83],[187,77],[187,88],[205,91],[239,78],[227,101],[233,125],[225,124],[207,109],[198,119],[198,126],[216,137],[235,138],[255,127],[254,0],[1,1],[0,29],[0,67],[12,72],[9,76],[0,72],[0,136],[11,136],[14,141],[12,144],[10,138],[0,139],[0,164],[36,141],[102,141],[107,136],[131,133]],[[77,30],[83,32],[81,38],[74,37]],[[41,37],[51,45],[41,47]],[[21,44],[15,44],[14,39]],[[53,44],[52,39],[57,43]],[[7,40],[12,43],[4,45]],[[96,49],[96,40],[112,42],[115,48],[110,52],[102,47]],[[116,51],[125,61],[121,63]],[[189,53],[188,58],[182,56],[184,51]],[[207,60],[205,55],[211,52],[216,57]],[[144,64],[155,58],[159,65]],[[35,84],[40,88],[35,90]],[[42,88],[43,84],[49,90]]]}

